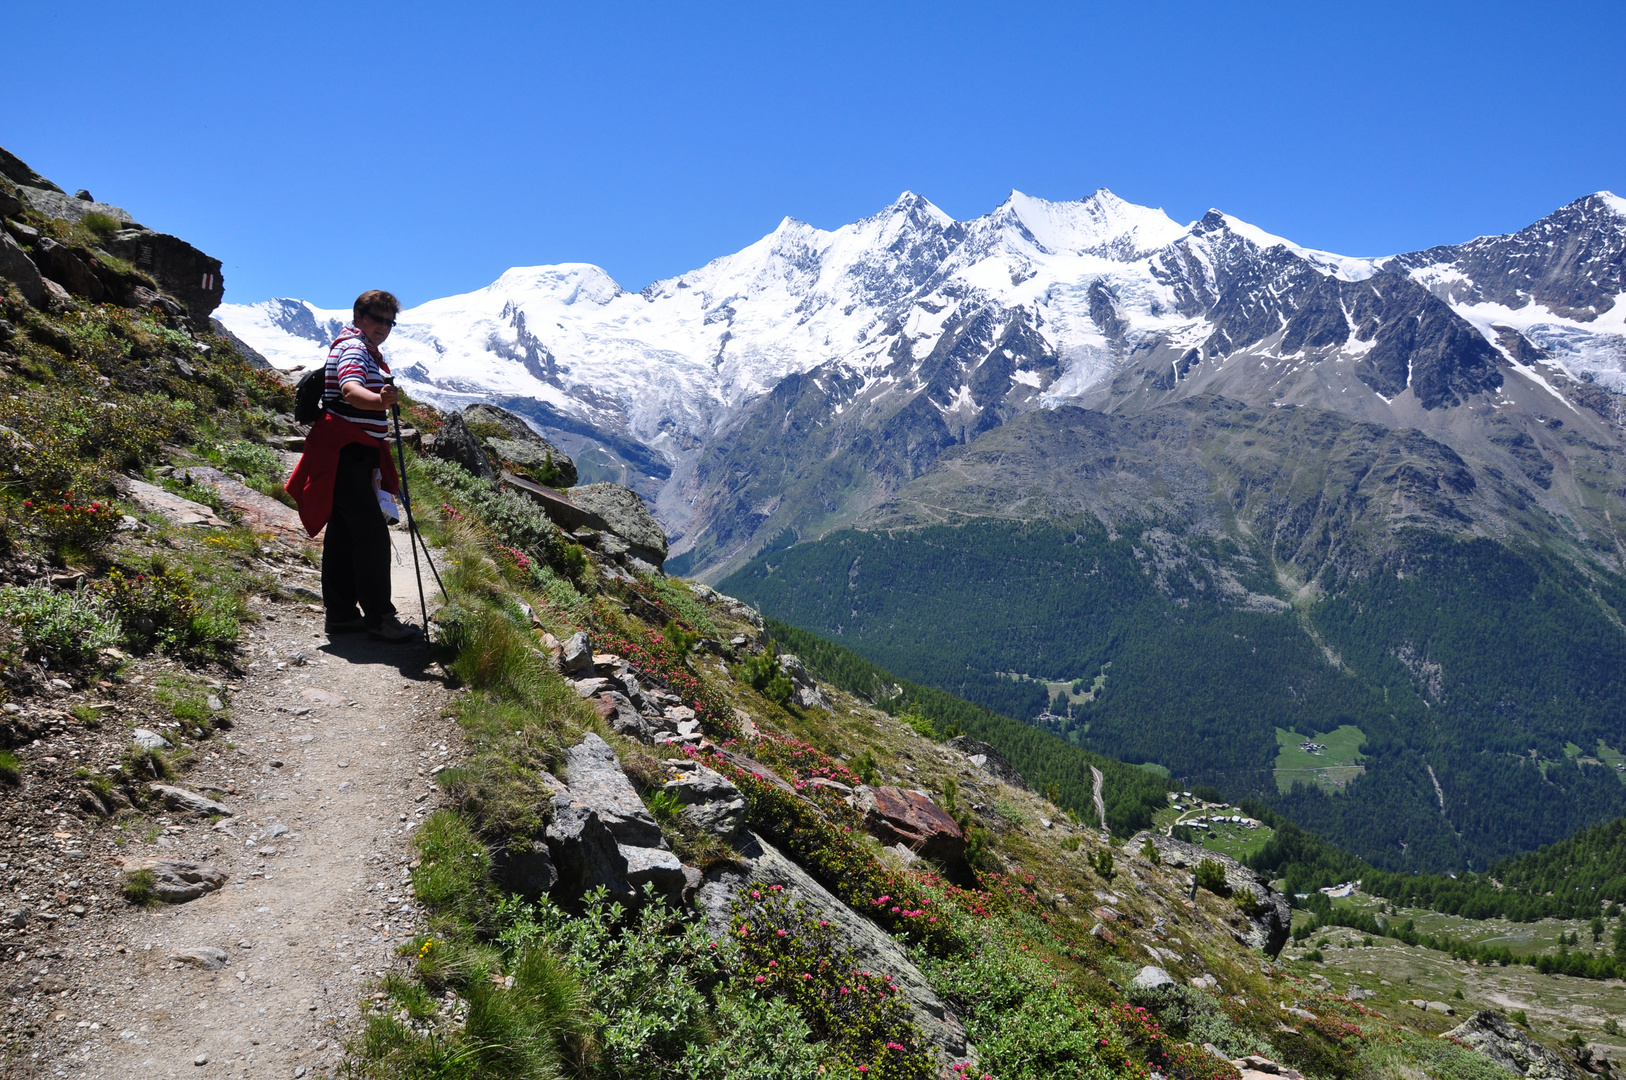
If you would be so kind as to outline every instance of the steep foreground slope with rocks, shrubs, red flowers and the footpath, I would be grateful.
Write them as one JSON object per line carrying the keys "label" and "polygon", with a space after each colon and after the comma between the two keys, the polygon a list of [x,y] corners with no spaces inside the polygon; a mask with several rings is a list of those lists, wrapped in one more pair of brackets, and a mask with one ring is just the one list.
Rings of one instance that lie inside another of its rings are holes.
{"label": "steep foreground slope with rocks, shrubs, red flowers and the footpath", "polygon": [[1285,966],[1270,882],[1099,828],[1163,781],[1085,758],[1065,813],[972,706],[665,576],[636,493],[501,410],[406,408],[434,649],[319,647],[286,384],[7,176],[50,281],[0,298],[8,1073],[1606,1072]]}

